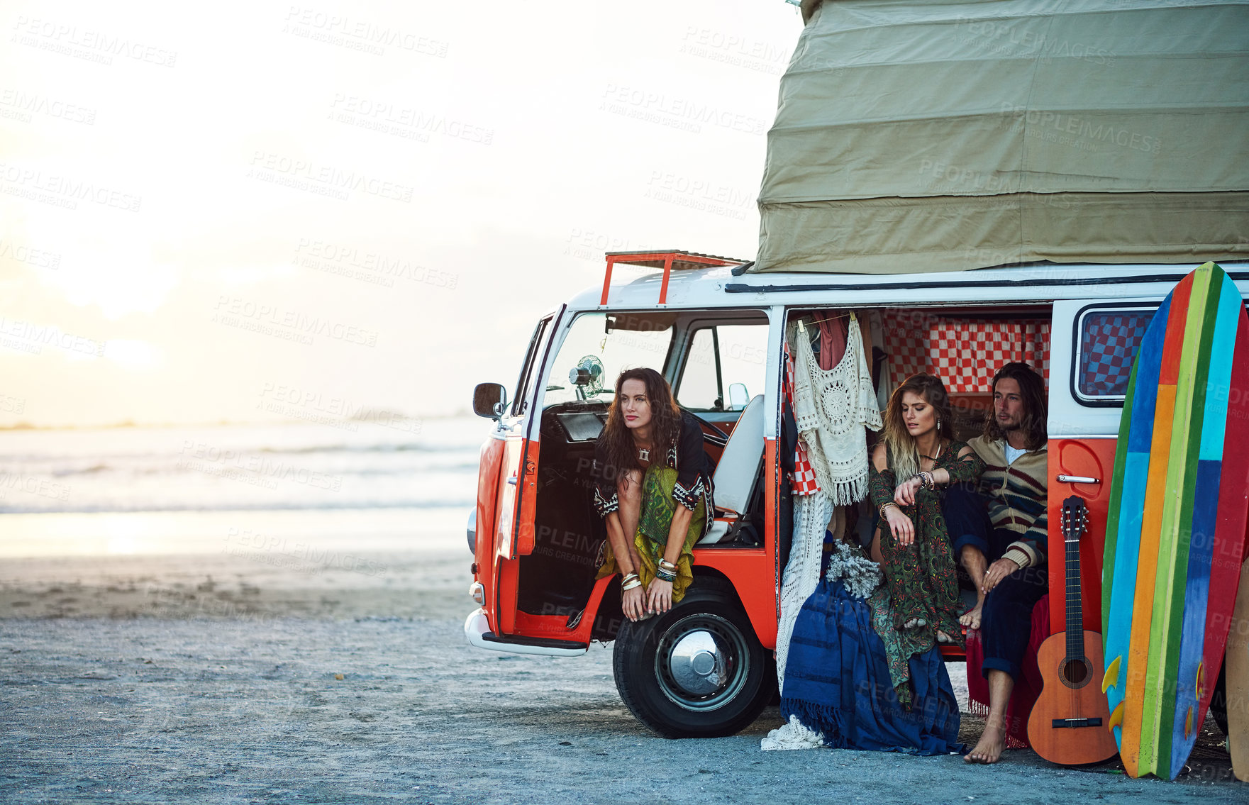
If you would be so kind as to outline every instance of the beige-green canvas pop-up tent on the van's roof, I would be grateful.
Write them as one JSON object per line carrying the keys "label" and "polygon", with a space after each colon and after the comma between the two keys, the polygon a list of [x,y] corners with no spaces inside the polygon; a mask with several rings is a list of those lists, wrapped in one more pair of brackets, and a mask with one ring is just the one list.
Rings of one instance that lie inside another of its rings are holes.
{"label": "beige-green canvas pop-up tent on the van's roof", "polygon": [[1249,255],[1249,1],[802,11],[749,271]]}

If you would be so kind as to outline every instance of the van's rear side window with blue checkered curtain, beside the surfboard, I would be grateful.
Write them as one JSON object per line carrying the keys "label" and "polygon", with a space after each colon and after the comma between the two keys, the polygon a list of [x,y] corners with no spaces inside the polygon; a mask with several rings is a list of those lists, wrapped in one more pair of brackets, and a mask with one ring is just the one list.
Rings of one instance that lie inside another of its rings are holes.
{"label": "van's rear side window with blue checkered curtain, beside the surfboard", "polygon": [[1075,392],[1082,401],[1122,401],[1132,362],[1158,308],[1092,308],[1079,320]]}

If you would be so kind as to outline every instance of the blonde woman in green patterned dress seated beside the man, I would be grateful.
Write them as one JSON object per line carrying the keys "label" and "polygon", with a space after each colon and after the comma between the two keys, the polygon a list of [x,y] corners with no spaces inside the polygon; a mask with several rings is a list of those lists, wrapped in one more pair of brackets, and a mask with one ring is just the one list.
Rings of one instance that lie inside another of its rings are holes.
{"label": "blonde woman in green patterned dress seated beside the man", "polygon": [[872,454],[868,478],[881,514],[872,552],[881,558],[888,589],[877,632],[889,654],[894,686],[906,700],[909,658],[936,643],[962,643],[958,575],[940,490],[974,482],[984,462],[954,441],[945,386],[932,374],[914,374],[893,392],[883,442]]}

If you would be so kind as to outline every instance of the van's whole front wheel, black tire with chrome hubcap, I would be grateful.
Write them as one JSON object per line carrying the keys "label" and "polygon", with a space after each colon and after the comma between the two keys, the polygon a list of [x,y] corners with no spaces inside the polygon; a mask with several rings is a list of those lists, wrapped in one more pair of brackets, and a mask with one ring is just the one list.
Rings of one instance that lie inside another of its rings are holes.
{"label": "van's whole front wheel, black tire with chrome hubcap", "polygon": [[[678,659],[674,674],[677,646],[687,661]],[[612,649],[624,706],[664,738],[719,738],[748,726],[772,699],[774,668],[732,585],[719,578],[696,578],[662,615],[626,620]]]}

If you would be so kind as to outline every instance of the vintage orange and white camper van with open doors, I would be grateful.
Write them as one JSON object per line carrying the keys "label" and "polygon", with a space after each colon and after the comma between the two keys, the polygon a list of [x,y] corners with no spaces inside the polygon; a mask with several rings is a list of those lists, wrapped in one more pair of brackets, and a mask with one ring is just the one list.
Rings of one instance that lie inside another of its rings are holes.
{"label": "vintage orange and white camper van with open doors", "polygon": [[[793,504],[781,438],[786,323],[853,311],[871,336],[883,393],[916,371],[939,374],[960,438],[979,432],[989,379],[1008,361],[1043,371],[1049,397],[1050,523],[1070,494],[1088,502],[1084,622],[1099,630],[1102,545],[1115,436],[1135,348],[1192,265],[1037,265],[913,275],[751,273],[744,261],[681,252],[607,255],[601,288],[536,324],[512,389],[482,383],[473,409],[495,419],[470,518],[465,622],[482,649],[576,656],[615,640],[621,698],[668,736],[732,734],[772,699],[778,592]],[[1242,292],[1249,263],[1223,263]],[[613,271],[649,271],[612,285]],[[716,527],[694,550],[696,580],[671,612],[623,619],[620,577],[595,580],[606,532],[590,467],[617,374],[659,371],[703,423],[716,463]],[[871,507],[864,504],[864,517]],[[1062,555],[1052,529],[1050,557]],[[1064,587],[1050,579],[1052,632]],[[950,653],[950,658],[957,658]]]}

